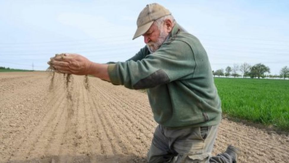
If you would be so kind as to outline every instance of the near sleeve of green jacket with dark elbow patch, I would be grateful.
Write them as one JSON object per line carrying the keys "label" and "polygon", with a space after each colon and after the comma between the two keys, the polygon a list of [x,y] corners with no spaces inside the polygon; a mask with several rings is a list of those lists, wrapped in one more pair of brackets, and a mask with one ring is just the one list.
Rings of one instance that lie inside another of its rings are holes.
{"label": "near sleeve of green jacket with dark elbow patch", "polygon": [[175,40],[163,44],[155,53],[142,60],[109,64],[113,84],[130,89],[152,88],[194,73],[195,57],[190,46]]}

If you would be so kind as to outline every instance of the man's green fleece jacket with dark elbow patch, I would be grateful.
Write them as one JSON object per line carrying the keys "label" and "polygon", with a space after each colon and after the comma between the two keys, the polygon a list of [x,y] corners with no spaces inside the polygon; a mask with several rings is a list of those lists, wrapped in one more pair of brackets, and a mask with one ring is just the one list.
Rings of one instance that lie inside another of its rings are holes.
{"label": "man's green fleece jacket with dark elbow patch", "polygon": [[200,41],[176,24],[154,53],[147,46],[125,62],[108,65],[111,83],[147,89],[154,119],[168,128],[220,123],[221,101]]}

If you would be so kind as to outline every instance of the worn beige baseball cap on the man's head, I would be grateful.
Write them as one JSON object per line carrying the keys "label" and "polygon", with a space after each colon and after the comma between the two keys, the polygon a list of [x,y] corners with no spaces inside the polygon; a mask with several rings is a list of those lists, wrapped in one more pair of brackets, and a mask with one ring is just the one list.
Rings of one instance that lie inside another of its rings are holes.
{"label": "worn beige baseball cap on the man's head", "polygon": [[147,32],[152,26],[152,23],[166,15],[171,15],[171,12],[160,4],[152,3],[147,6],[139,13],[137,18],[137,31],[132,39],[135,39]]}

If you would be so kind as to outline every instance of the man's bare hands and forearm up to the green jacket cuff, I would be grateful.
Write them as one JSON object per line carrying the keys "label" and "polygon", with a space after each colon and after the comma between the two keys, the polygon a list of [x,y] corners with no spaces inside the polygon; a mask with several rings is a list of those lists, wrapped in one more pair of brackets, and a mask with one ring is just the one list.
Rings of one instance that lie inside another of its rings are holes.
{"label": "man's bare hands and forearm up to the green jacket cuff", "polygon": [[50,58],[47,62],[56,72],[75,75],[93,75],[102,80],[110,81],[107,64],[89,61],[79,54],[64,53]]}

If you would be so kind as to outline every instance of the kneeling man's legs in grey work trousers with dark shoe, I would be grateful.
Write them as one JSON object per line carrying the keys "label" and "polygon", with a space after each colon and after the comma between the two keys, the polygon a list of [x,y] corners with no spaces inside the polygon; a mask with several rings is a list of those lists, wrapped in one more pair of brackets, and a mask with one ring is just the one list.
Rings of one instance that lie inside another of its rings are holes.
{"label": "kneeling man's legs in grey work trousers with dark shoe", "polygon": [[219,125],[185,129],[168,129],[158,125],[155,129],[148,162],[229,163],[227,153],[211,156]]}

